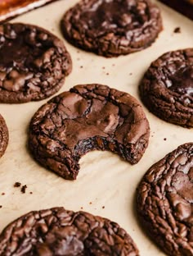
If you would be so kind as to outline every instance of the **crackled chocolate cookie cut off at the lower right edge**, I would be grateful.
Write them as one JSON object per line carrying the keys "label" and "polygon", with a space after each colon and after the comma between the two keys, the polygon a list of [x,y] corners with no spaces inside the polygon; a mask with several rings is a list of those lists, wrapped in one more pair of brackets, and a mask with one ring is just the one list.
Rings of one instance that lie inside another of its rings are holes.
{"label": "crackled chocolate cookie cut off at the lower right edge", "polygon": [[168,255],[193,255],[193,143],[156,162],[137,190],[141,223]]}

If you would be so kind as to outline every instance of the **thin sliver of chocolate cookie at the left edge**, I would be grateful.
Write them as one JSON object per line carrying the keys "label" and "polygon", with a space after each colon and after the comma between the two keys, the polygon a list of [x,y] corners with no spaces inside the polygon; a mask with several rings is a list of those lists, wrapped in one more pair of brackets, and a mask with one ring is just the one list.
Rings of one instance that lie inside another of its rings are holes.
{"label": "thin sliver of chocolate cookie at the left edge", "polygon": [[0,115],[0,158],[5,153],[7,149],[7,144],[9,140],[9,133],[6,125],[6,121]]}

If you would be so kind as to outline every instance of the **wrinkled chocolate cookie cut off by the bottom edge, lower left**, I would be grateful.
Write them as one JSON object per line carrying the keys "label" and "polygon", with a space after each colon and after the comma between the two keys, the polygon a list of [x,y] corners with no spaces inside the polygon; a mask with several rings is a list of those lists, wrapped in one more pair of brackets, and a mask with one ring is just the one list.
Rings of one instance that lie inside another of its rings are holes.
{"label": "wrinkled chocolate cookie cut off by the bottom edge, lower left", "polygon": [[137,246],[117,223],[90,213],[51,208],[31,212],[0,235],[0,254],[137,256]]}

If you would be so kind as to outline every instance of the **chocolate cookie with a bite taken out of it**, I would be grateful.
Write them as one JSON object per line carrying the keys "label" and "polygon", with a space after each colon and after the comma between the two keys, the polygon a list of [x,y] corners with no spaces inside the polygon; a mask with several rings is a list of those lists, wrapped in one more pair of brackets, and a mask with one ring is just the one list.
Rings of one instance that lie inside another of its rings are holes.
{"label": "chocolate cookie with a bite taken out of it", "polygon": [[106,85],[77,85],[38,109],[29,126],[29,149],[43,166],[74,180],[79,158],[94,149],[137,163],[149,130],[131,95]]}

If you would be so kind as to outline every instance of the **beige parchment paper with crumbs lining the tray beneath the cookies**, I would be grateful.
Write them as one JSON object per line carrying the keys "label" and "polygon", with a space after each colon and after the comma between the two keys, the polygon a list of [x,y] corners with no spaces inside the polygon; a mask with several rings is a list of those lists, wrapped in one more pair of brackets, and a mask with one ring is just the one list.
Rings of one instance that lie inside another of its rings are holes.
{"label": "beige parchment paper with crumbs lining the tray beneath the cookies", "polygon": [[[61,16],[75,2],[78,0],[54,2],[13,21],[43,26],[63,39],[59,27]],[[150,62],[169,50],[193,47],[193,22],[159,2],[157,4],[162,11],[164,31],[150,48],[139,53],[107,59],[65,42],[73,59],[73,71],[59,93],[78,84],[100,83],[139,99],[138,84]],[[173,30],[178,26],[182,32],[174,34]],[[64,206],[118,222],[132,236],[141,256],[164,255],[141,231],[137,222],[134,209],[136,188],[154,162],[178,145],[193,141],[193,129],[161,121],[144,107],[150,121],[150,144],[137,165],[131,166],[113,153],[94,151],[81,159],[77,181],[65,181],[34,162],[26,146],[29,121],[38,107],[46,102],[47,99],[36,103],[0,105],[10,134],[7,151],[0,159],[0,230],[31,210]],[[21,194],[20,188],[13,187],[16,181],[27,185],[25,194]]]}

